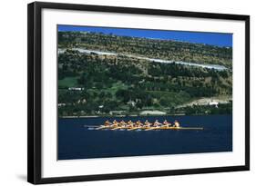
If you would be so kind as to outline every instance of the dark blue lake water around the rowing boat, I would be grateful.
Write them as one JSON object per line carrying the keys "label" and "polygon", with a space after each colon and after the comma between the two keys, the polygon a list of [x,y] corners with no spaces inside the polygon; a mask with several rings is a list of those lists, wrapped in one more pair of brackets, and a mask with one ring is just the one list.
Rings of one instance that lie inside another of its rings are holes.
{"label": "dark blue lake water around the rowing boat", "polygon": [[[202,131],[88,130],[106,120],[179,120]],[[58,160],[232,151],[232,115],[72,118],[58,120]]]}

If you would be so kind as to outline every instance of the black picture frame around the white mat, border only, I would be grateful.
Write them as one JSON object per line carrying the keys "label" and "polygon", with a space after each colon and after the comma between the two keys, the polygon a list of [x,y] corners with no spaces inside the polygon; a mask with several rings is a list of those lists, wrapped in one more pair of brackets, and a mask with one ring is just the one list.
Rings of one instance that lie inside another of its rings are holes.
{"label": "black picture frame around the white mat, border only", "polygon": [[[41,115],[41,23],[42,9],[78,10],[138,15],[166,15],[178,17],[197,17],[245,22],[245,164],[240,166],[210,167],[175,171],[144,171],[98,175],[80,175],[55,178],[42,178],[42,115]],[[27,181],[34,184],[69,181],[100,181],[140,177],[169,176],[180,174],[210,173],[223,171],[250,170],[250,16],[226,15],[199,12],[142,9],[100,5],[75,5],[35,2],[27,6]]]}

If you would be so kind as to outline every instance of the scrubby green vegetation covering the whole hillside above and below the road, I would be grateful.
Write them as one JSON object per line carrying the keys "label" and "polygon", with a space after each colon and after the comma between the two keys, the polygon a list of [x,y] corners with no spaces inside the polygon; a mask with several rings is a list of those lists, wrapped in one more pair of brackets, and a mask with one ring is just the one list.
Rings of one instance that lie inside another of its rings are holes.
{"label": "scrubby green vegetation covering the whole hillside above and below the road", "polygon": [[[219,108],[210,105],[179,108],[201,97],[230,96],[230,70],[161,64],[122,55],[172,56],[179,60],[186,55],[191,62],[231,66],[230,48],[73,32],[60,32],[58,42],[59,48],[67,49],[58,54],[59,116],[131,115],[149,110],[169,114],[231,112],[231,103],[220,104]],[[74,46],[121,54],[80,53]]]}

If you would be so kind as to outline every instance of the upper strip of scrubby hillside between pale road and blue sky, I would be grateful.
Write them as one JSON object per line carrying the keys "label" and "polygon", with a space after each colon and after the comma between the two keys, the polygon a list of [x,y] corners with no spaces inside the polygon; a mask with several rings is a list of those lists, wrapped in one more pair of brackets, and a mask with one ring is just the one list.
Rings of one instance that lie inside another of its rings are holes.
{"label": "upper strip of scrubby hillside between pale road and blue sky", "polygon": [[169,40],[147,39],[114,34],[59,32],[60,48],[83,47],[92,50],[137,54],[151,58],[169,59],[231,66],[232,48],[208,44],[191,44]]}

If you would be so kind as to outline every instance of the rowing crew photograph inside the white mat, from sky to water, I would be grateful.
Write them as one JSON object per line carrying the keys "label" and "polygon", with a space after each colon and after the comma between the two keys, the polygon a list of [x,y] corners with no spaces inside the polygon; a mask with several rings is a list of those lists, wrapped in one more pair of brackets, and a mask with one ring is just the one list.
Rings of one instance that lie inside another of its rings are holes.
{"label": "rowing crew photograph inside the white mat, from sky to water", "polygon": [[57,160],[232,152],[232,33],[56,34]]}

